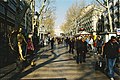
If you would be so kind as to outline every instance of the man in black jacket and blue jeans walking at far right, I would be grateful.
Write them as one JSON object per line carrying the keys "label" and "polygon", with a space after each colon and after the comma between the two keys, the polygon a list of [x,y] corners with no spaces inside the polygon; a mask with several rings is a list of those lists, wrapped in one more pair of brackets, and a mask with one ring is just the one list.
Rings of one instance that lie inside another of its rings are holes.
{"label": "man in black jacket and blue jeans walking at far right", "polygon": [[119,54],[119,49],[119,44],[114,36],[111,37],[104,47],[103,55],[106,56],[108,61],[108,76],[111,80],[114,80],[114,65]]}

